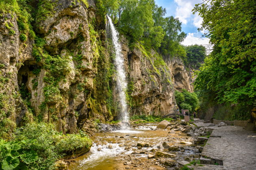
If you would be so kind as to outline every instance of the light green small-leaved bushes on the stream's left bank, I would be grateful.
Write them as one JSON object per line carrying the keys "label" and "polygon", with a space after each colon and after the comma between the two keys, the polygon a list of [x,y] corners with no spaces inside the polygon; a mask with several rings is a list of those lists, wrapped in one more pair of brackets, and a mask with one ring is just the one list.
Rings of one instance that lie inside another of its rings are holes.
{"label": "light green small-leaved bushes on the stream's left bank", "polygon": [[[62,133],[54,130],[54,125],[46,123],[30,123],[20,127],[16,131],[14,142],[21,141],[21,149],[27,150],[27,163],[34,160],[37,154],[38,158],[31,163],[31,169],[54,169],[54,163],[69,153],[79,148],[90,148],[91,140],[86,135]],[[34,152],[33,152],[34,151]]]}

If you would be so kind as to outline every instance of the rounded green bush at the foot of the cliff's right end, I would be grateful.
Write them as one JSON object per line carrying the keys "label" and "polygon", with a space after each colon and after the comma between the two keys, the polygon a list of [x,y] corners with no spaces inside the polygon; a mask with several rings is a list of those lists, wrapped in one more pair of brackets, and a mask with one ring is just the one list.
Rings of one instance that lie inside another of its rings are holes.
{"label": "rounded green bush at the foot of the cliff's right end", "polygon": [[186,89],[180,91],[175,91],[176,102],[181,109],[189,109],[189,112],[195,111],[199,104],[199,100],[195,93],[190,93]]}

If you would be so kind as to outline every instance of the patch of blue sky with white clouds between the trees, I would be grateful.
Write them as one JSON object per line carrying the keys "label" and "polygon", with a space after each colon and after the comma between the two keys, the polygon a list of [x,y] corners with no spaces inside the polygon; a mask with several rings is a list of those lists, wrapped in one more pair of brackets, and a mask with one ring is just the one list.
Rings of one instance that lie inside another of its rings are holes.
{"label": "patch of blue sky with white clouds between the trees", "polygon": [[209,44],[208,38],[202,37],[205,30],[197,31],[201,26],[202,18],[191,12],[195,4],[202,3],[202,0],[155,0],[155,2],[158,6],[166,8],[166,17],[174,16],[182,22],[182,31],[187,33],[183,45]]}

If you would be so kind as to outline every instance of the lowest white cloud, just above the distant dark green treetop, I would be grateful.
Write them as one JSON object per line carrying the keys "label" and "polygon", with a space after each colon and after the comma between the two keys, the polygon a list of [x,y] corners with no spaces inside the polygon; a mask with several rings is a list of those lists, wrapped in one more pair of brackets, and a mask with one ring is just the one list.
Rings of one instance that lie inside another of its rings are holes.
{"label": "lowest white cloud, just above the distant dark green treetop", "polygon": [[194,33],[187,34],[185,40],[181,43],[182,45],[209,45],[209,38],[196,37]]}

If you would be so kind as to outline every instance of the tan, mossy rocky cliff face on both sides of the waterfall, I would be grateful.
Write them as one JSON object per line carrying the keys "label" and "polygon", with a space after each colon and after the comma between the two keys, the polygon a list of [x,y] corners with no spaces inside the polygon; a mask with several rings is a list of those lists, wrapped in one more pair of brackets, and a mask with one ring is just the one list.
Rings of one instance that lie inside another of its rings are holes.
{"label": "tan, mossy rocky cliff face on both sides of the waterfall", "polygon": [[[36,36],[26,33],[26,40],[20,38],[15,13],[0,17],[0,121],[8,118],[22,125],[37,119],[75,133],[94,127],[95,119],[117,117],[113,51],[106,19],[97,14],[92,0],[88,5],[51,2],[54,11],[37,19]],[[176,105],[174,87],[193,91],[178,58],[166,64],[141,45],[129,49],[125,38],[122,47],[131,115],[163,115]]]}

